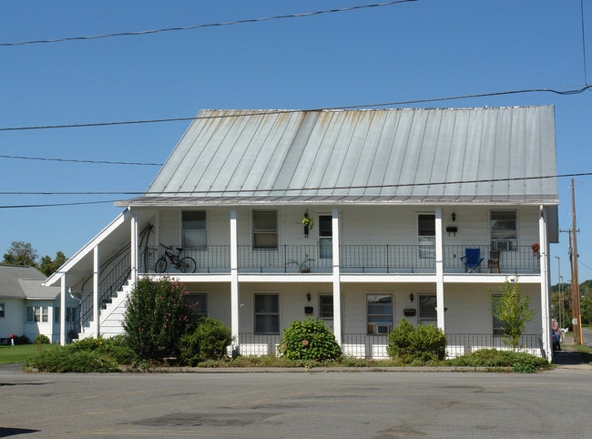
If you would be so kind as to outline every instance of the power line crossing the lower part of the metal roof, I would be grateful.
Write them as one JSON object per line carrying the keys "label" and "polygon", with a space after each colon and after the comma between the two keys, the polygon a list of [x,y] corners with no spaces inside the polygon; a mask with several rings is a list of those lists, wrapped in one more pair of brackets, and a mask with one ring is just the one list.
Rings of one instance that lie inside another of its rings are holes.
{"label": "power line crossing the lower part of the metal roof", "polygon": [[592,172],[579,172],[572,174],[556,174],[548,176],[537,177],[507,177],[503,179],[464,179],[454,181],[435,181],[426,183],[398,183],[398,184],[384,184],[384,185],[358,185],[358,186],[320,186],[320,187],[303,187],[303,188],[282,188],[282,189],[224,189],[224,190],[180,190],[180,191],[163,191],[147,194],[145,190],[142,191],[0,191],[0,195],[208,195],[215,194],[240,194],[240,193],[258,193],[258,192],[301,192],[304,190],[347,190],[347,189],[389,189],[389,188],[419,188],[426,186],[443,186],[443,185],[458,185],[458,184],[475,184],[475,183],[496,183],[504,181],[526,181],[538,179],[563,179],[566,177],[589,177]]}

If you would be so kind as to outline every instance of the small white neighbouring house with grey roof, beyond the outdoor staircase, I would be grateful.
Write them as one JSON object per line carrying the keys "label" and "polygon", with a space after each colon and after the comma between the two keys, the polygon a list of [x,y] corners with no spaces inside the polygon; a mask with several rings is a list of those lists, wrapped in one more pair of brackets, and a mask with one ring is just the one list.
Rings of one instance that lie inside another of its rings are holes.
{"label": "small white neighbouring house with grey roof, beyond the outdoor staircase", "polygon": [[[9,343],[11,335],[33,342],[39,334],[59,342],[60,290],[44,287],[45,281],[46,275],[34,267],[0,265],[0,343]],[[67,298],[68,332],[76,329],[77,307],[78,301]]]}

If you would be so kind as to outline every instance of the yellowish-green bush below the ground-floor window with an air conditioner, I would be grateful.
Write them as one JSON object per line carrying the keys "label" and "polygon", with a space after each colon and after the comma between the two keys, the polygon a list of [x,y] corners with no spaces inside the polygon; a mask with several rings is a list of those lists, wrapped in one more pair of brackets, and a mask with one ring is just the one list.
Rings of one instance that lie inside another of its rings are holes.
{"label": "yellowish-green bush below the ground-floor window with an air conditioner", "polygon": [[393,359],[413,365],[438,362],[446,356],[446,336],[432,324],[413,327],[403,319],[389,333],[386,352]]}

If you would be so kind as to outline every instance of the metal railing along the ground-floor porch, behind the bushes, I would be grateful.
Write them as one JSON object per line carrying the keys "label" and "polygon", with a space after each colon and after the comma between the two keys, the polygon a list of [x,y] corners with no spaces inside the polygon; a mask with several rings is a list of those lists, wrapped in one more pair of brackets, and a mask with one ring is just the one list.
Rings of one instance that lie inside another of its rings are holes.
{"label": "metal railing along the ground-floor porch, behind the bushes", "polygon": [[[462,356],[481,349],[497,349],[509,351],[511,348],[502,337],[491,334],[446,334],[446,358]],[[280,334],[239,334],[239,351],[241,355],[277,355],[281,342]],[[388,358],[386,347],[388,335],[367,335],[364,333],[343,334],[342,352],[355,358],[385,359]],[[524,334],[519,346],[520,352],[542,356],[541,337],[537,334]]]}

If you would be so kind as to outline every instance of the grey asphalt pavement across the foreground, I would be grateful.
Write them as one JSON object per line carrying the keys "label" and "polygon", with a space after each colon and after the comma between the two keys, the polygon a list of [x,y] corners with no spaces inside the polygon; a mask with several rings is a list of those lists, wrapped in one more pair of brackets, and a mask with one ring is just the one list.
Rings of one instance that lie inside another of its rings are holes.
{"label": "grey asphalt pavement across the foreground", "polygon": [[586,437],[592,372],[47,374],[0,368],[0,436]]}

